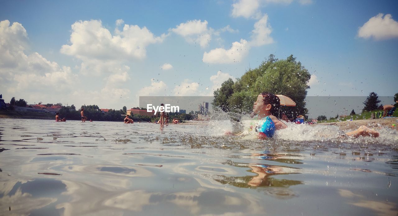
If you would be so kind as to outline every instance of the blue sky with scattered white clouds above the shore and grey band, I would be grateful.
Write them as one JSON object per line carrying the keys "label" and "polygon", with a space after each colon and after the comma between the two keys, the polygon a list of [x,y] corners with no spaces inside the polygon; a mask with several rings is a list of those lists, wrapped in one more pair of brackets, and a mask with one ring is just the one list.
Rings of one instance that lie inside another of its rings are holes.
{"label": "blue sky with scattered white clouds above the shore and grey band", "polygon": [[396,8],[394,0],[2,1],[0,93],[6,102],[129,109],[139,96],[213,95],[269,54],[293,54],[311,74],[308,96],[392,96]]}

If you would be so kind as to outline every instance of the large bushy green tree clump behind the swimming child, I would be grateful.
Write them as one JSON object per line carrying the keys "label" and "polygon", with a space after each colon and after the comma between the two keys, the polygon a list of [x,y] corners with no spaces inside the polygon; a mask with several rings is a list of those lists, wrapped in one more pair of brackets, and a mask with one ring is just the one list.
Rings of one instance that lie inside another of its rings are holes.
{"label": "large bushy green tree clump behind the swimming child", "polygon": [[232,79],[224,82],[214,92],[213,109],[220,107],[223,111],[250,113],[257,96],[266,91],[286,95],[296,102],[295,107],[281,107],[281,113],[289,118],[305,116],[308,110],[304,99],[310,88],[307,85],[310,78],[308,70],[293,55],[279,60],[271,54],[258,68],[249,69],[235,83]]}

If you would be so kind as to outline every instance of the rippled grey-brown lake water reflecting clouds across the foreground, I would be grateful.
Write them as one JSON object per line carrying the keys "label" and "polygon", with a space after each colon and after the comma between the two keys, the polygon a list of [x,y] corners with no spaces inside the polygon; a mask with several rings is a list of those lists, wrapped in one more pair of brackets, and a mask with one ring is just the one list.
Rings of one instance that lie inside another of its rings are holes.
{"label": "rippled grey-brown lake water reflecting clouds across the foreground", "polygon": [[397,215],[396,130],[292,128],[0,119],[0,215]]}

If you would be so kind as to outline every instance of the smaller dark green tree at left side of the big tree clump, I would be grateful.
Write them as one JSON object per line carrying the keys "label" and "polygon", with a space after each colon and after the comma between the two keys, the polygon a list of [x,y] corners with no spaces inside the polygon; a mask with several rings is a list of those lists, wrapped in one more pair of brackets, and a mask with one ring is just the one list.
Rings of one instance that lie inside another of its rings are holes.
{"label": "smaller dark green tree at left side of the big tree clump", "polygon": [[233,85],[234,81],[229,78],[221,84],[221,87],[219,89],[214,91],[214,99],[211,103],[213,105],[213,109],[220,108],[224,112],[228,112],[231,110],[231,107],[228,104],[228,98],[234,92],[232,89]]}

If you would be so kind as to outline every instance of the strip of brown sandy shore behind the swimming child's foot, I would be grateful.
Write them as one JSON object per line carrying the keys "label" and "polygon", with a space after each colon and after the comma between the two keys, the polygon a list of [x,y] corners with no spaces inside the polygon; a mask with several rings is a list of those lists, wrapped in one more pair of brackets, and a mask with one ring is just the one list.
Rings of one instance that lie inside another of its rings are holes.
{"label": "strip of brown sandy shore behind the swimming child's foot", "polygon": [[377,129],[379,127],[389,127],[391,128],[392,124],[396,124],[394,127],[395,130],[398,130],[398,118],[388,118],[388,119],[361,119],[354,121],[341,121],[341,122],[331,122],[331,123],[318,123],[314,125],[336,125],[340,130],[356,130],[361,125],[365,125],[369,128]]}

